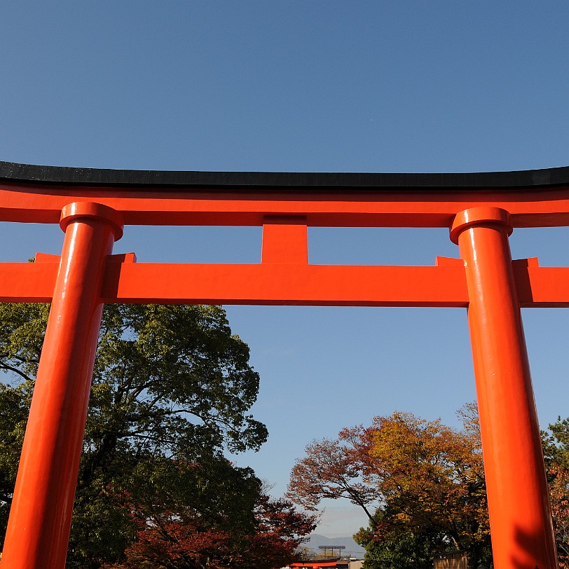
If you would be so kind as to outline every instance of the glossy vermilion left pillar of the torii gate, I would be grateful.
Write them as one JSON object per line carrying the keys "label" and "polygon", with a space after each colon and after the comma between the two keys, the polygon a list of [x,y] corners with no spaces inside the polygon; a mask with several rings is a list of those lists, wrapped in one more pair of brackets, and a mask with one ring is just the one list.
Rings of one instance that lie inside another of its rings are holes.
{"label": "glossy vermilion left pillar of the torii gate", "polygon": [[8,520],[2,569],[63,569],[85,431],[105,260],[121,216],[97,203],[62,210],[60,270]]}

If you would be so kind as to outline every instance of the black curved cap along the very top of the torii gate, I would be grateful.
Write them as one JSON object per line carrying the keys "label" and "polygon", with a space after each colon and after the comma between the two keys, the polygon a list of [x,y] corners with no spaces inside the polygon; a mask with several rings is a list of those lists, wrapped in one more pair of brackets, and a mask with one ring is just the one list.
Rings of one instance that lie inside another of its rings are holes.
{"label": "black curved cap along the very top of the torii gate", "polygon": [[540,189],[569,186],[569,166],[514,172],[358,173],[358,172],[197,172],[170,170],[108,170],[40,166],[0,161],[0,180],[65,186],[144,188],[225,188],[366,190],[404,188]]}

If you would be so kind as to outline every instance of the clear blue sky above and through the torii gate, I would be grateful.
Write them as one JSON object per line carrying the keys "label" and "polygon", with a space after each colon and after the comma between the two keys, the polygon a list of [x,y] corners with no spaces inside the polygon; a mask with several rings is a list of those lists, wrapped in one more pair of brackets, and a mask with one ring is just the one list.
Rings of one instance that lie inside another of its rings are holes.
{"label": "clear blue sky above and through the torii gate", "polygon": [[[0,160],[142,170],[468,172],[569,165],[569,3],[53,1],[0,10]],[[569,266],[567,228],[514,257]],[[0,226],[1,261],[58,253]],[[140,262],[257,262],[259,228],[128,227]],[[311,263],[425,264],[448,232],[313,229]],[[270,432],[236,458],[285,491],[310,440],[474,399],[463,309],[228,306]],[[569,416],[567,310],[524,310],[542,426]],[[319,533],[365,523],[327,505]]]}

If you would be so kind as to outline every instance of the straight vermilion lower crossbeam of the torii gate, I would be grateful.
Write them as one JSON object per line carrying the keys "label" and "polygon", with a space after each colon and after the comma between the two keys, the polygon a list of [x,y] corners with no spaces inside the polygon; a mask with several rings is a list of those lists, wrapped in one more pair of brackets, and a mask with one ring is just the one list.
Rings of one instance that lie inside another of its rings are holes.
{"label": "straight vermilion lower crossbeam of the torii gate", "polygon": [[[425,267],[119,262],[124,258],[107,262],[106,303],[468,306],[460,259]],[[0,263],[0,302],[51,301],[59,256],[38,260]],[[522,307],[569,307],[569,268],[540,267],[537,259],[513,267]]]}

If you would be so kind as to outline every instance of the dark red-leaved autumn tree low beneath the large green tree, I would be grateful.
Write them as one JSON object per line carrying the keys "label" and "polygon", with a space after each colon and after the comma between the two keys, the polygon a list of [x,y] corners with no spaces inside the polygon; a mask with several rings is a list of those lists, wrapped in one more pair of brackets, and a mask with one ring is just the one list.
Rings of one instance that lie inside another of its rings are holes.
{"label": "dark red-leaved autumn tree low beneath the large green tree", "polygon": [[125,497],[136,538],[123,561],[105,568],[273,569],[295,561],[302,537],[315,527],[315,516],[269,498],[251,469],[214,460],[164,461],[156,470],[165,477],[159,495],[147,487]]}

